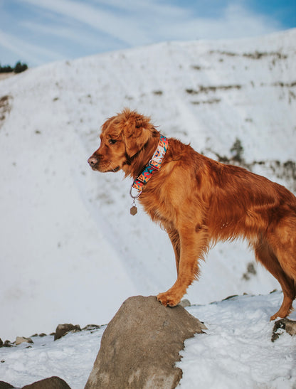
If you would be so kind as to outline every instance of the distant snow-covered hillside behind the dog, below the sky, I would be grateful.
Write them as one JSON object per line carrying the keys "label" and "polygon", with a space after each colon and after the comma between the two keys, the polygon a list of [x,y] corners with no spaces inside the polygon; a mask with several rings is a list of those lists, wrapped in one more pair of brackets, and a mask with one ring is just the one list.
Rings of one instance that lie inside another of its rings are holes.
{"label": "distant snow-covered hillside behind the dog, below the sky", "polygon": [[[208,156],[230,158],[238,138],[247,163],[295,161],[295,42],[296,30],[161,43],[1,80],[2,339],[61,322],[107,323],[125,298],[163,292],[175,280],[166,234],[143,211],[129,215],[129,180],[88,167],[106,117],[130,107]],[[293,188],[272,169],[255,169]],[[206,304],[278,287],[256,265],[255,275],[247,272],[249,262],[243,243],[217,245],[189,299]]]}

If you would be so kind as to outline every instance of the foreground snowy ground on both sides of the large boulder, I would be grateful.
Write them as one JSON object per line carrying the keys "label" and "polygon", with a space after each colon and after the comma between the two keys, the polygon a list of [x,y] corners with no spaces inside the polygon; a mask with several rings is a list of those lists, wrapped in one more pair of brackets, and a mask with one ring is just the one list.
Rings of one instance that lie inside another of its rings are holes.
{"label": "foreground snowy ground on both sides of the large boulder", "polygon": [[[206,334],[185,341],[181,351],[181,389],[295,388],[296,337],[281,334],[272,343],[274,312],[282,293],[240,296],[187,308],[203,320]],[[296,319],[296,314],[292,314]],[[33,344],[0,348],[0,380],[21,387],[58,375],[72,389],[85,386],[93,368],[105,326],[95,331],[33,337]]]}

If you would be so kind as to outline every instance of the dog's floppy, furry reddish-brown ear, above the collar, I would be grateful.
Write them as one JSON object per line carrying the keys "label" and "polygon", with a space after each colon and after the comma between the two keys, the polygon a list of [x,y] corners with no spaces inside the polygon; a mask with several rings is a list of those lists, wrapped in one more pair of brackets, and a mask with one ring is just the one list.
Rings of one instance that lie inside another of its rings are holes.
{"label": "dog's floppy, furry reddish-brown ear, above the collar", "polygon": [[144,147],[152,136],[149,117],[137,112],[125,111],[125,122],[122,125],[122,134],[125,138],[127,155],[132,157]]}

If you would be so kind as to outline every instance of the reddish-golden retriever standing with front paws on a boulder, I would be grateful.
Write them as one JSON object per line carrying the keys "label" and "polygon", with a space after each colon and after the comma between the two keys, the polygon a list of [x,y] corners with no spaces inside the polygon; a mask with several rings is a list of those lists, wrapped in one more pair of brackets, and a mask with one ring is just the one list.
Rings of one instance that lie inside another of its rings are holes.
{"label": "reddish-golden retriever standing with front paws on a boulder", "polygon": [[[125,109],[102,125],[100,147],[88,163],[96,171],[122,169],[137,180],[160,137],[149,117]],[[282,287],[282,305],[270,320],[290,314],[296,294],[296,197],[263,176],[209,159],[177,139],[167,141],[160,168],[138,193],[174,247],[177,279],[157,299],[174,307],[199,277],[199,261],[209,247],[243,238]]]}

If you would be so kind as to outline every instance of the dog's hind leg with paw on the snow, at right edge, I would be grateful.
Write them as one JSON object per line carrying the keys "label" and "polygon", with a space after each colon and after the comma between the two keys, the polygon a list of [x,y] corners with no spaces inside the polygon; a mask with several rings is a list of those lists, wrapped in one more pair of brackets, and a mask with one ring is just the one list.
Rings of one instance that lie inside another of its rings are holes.
{"label": "dog's hind leg with paw on the snow, at right edge", "polygon": [[273,252],[268,242],[260,240],[254,245],[256,259],[261,262],[266,269],[280,282],[284,299],[276,314],[270,317],[275,320],[277,317],[286,317],[292,311],[292,302],[295,299],[295,282],[287,273],[282,270],[277,256]]}

